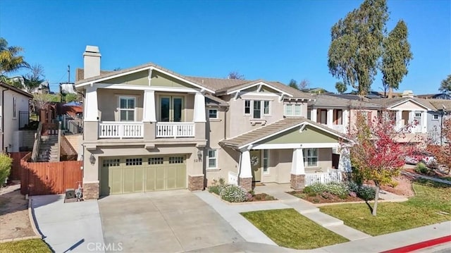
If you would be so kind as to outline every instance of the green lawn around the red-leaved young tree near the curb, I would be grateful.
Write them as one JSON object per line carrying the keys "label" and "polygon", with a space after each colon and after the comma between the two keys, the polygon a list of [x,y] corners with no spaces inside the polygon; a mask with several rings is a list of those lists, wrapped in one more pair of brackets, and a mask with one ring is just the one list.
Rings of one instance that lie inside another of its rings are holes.
{"label": "green lawn around the red-leaved young tree near the curb", "polygon": [[[320,210],[369,235],[383,235],[451,221],[451,185],[418,180],[413,187],[416,195],[407,202],[378,203],[376,217],[371,215],[366,204],[321,206]],[[438,214],[440,211],[448,214]]]}

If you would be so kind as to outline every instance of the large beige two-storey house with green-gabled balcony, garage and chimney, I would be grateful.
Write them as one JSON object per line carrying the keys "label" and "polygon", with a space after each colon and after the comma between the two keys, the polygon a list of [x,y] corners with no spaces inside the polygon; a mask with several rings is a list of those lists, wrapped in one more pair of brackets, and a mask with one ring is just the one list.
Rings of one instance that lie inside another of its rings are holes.
{"label": "large beige two-storey house with green-gabled balcony, garage and chimney", "polygon": [[99,49],[87,46],[83,56],[85,79],[75,87],[85,94],[87,199],[203,190],[218,178],[247,190],[253,182],[299,189],[321,172],[338,173],[332,154],[345,137],[307,119],[310,94],[266,80],[188,77],[153,63],[101,74]]}

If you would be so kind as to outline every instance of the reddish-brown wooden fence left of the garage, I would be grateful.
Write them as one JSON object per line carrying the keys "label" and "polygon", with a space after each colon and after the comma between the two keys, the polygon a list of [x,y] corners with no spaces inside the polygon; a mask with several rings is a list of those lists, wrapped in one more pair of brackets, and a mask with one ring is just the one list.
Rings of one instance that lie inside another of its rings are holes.
{"label": "reddish-brown wooden fence left of the garage", "polygon": [[54,195],[76,188],[82,181],[82,161],[28,162],[31,153],[20,159],[20,193],[23,195]]}

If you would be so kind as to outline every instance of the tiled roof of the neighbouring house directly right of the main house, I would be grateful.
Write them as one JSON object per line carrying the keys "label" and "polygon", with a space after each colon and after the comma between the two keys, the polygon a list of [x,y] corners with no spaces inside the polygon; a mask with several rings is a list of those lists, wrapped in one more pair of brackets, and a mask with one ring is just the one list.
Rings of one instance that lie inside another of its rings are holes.
{"label": "tiled roof of the neighbouring house directly right of the main house", "polygon": [[329,94],[318,94],[315,101],[310,101],[309,106],[325,106],[325,107],[350,107],[364,109],[381,109],[382,106],[367,101],[357,101],[354,99],[343,99],[341,97],[331,96]]}

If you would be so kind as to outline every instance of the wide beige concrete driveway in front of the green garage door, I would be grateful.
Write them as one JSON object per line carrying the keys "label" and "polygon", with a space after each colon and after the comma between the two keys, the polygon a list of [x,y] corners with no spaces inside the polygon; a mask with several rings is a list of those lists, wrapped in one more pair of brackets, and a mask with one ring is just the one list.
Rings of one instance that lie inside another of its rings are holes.
{"label": "wide beige concrete driveway in front of the green garage door", "polygon": [[104,197],[99,209],[104,242],[111,251],[183,252],[244,242],[211,206],[188,190]]}

